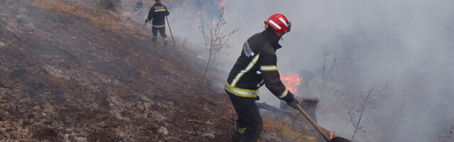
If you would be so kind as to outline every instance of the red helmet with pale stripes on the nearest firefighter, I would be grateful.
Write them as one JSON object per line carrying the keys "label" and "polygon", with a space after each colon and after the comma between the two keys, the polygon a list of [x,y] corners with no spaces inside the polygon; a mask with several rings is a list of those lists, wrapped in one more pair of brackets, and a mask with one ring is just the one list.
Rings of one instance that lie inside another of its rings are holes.
{"label": "red helmet with pale stripes on the nearest firefighter", "polygon": [[275,29],[275,31],[282,31],[287,33],[290,31],[290,27],[292,27],[292,23],[287,20],[287,18],[282,15],[281,13],[275,13],[270,18],[265,21],[269,26]]}

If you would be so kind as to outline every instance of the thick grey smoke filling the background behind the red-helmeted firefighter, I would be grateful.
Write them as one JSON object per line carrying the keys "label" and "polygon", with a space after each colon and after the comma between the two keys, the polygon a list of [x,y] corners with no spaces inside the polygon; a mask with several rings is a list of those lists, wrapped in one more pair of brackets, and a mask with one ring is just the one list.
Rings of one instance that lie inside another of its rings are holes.
{"label": "thick grey smoke filling the background behind the red-helmeted firefighter", "polygon": [[[172,30],[200,51],[200,8],[190,1],[181,7],[170,6]],[[454,141],[453,7],[448,0],[230,0],[227,26],[239,31],[231,39],[234,48],[216,58],[217,67],[228,72],[245,40],[263,30],[263,21],[284,13],[293,27],[277,51],[282,75],[305,70],[320,77],[329,53],[326,64],[333,68],[321,98],[321,126],[349,138],[348,108],[359,107],[360,92],[375,87],[376,108],[365,114],[366,133],[355,140]],[[297,94],[320,97],[320,86],[319,80],[309,82]],[[262,101],[277,104],[267,89],[260,92]]]}

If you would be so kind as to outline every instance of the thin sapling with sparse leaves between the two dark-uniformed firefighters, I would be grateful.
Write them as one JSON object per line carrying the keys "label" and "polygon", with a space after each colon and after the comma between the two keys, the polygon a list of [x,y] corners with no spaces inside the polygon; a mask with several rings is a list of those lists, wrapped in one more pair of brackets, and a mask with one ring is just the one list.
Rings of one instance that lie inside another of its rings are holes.
{"label": "thin sapling with sparse leaves between the two dark-uniformed firefighters", "polygon": [[233,31],[226,30],[227,21],[223,17],[223,9],[219,11],[218,17],[217,23],[211,23],[211,25],[204,25],[204,23],[201,23],[201,26],[199,27],[200,33],[204,36],[204,45],[206,45],[209,53],[202,82],[205,82],[212,56],[221,52],[223,49],[231,48],[231,45],[228,44],[228,40],[238,31],[238,29]]}

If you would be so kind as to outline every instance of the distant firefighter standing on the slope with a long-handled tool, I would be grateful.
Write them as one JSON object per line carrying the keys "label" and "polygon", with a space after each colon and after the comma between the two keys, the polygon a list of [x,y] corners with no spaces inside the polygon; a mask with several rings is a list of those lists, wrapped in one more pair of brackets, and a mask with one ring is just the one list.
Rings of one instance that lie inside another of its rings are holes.
{"label": "distant firefighter standing on the slope with a long-handled tool", "polygon": [[153,20],[151,31],[153,33],[153,42],[156,41],[156,35],[159,31],[161,37],[164,39],[164,47],[167,46],[167,35],[165,34],[165,16],[169,16],[169,11],[164,4],[161,4],[161,0],[155,0],[155,4],[151,7],[148,12],[148,17],[145,19],[145,23]]}

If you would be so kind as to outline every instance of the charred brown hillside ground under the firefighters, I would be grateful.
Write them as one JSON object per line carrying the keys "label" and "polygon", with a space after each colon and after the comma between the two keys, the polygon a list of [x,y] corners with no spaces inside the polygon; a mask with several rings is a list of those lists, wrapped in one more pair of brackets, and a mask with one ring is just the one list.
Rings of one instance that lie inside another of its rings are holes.
{"label": "charred brown hillside ground under the firefighters", "polygon": [[[222,89],[201,93],[196,55],[152,43],[115,11],[0,0],[0,34],[0,141],[230,137],[236,114]],[[264,121],[260,141],[317,141]]]}

